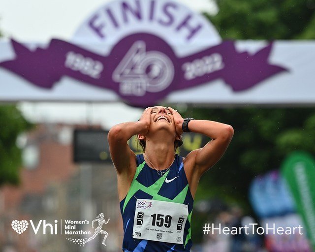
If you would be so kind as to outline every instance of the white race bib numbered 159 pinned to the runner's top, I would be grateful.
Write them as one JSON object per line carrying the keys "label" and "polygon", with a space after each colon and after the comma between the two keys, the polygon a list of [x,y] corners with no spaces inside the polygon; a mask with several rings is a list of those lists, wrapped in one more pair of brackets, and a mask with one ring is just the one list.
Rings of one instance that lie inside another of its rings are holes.
{"label": "white race bib numbered 159 pinned to the runner's top", "polygon": [[183,244],[187,217],[188,205],[154,199],[137,199],[132,237]]}

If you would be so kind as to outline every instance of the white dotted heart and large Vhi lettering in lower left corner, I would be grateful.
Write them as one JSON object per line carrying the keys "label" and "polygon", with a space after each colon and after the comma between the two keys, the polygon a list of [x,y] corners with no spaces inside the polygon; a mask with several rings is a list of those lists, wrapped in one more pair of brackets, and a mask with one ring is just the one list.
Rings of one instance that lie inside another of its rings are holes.
{"label": "white dotted heart and large Vhi lettering in lower left corner", "polygon": [[[30,223],[35,234],[37,234],[37,232],[39,231],[42,223],[43,223],[43,228],[42,228],[43,234],[46,234],[47,227],[50,228],[50,234],[58,234],[58,221],[57,220],[55,220],[54,225],[51,223],[46,223],[46,220],[39,220],[36,227],[32,220],[30,220]],[[15,232],[17,232],[18,234],[22,234],[29,227],[29,222],[26,220],[23,220],[23,221],[14,220],[12,221],[11,226]]]}

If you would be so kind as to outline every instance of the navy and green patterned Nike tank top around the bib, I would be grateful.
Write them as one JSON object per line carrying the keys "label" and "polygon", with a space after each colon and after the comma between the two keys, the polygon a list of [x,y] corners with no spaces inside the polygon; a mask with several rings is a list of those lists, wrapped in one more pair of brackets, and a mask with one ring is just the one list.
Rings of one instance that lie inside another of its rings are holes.
{"label": "navy and green patterned Nike tank top around the bib", "polygon": [[[124,223],[124,252],[189,252],[191,242],[190,220],[193,198],[184,171],[183,158],[175,155],[175,160],[161,180],[157,170],[149,167],[143,154],[136,156],[136,172],[126,197],[120,202]],[[167,169],[163,170],[166,171]],[[162,172],[163,172],[162,171]],[[166,183],[165,179],[174,179]],[[184,244],[134,239],[132,237],[135,205],[137,199],[154,199],[188,205],[188,219],[184,227]]]}

